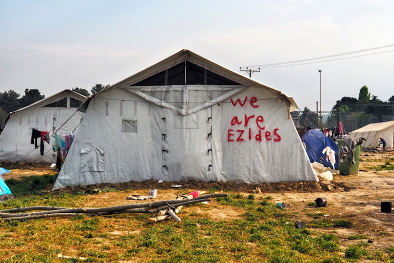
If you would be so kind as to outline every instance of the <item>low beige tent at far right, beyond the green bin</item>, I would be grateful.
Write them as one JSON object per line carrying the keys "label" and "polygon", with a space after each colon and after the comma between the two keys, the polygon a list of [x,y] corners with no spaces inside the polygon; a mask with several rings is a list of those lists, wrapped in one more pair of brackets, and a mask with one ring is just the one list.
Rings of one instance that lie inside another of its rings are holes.
{"label": "low beige tent at far right, beyond the green bin", "polygon": [[349,137],[364,137],[361,145],[364,151],[370,151],[378,146],[379,137],[386,141],[386,150],[393,150],[394,120],[383,123],[371,123],[349,133]]}

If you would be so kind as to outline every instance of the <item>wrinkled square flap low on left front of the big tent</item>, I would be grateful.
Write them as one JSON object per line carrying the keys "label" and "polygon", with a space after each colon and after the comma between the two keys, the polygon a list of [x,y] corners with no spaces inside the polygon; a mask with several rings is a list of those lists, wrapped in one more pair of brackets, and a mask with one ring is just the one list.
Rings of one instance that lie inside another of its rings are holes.
{"label": "wrinkled square flap low on left front of the big tent", "polygon": [[81,149],[81,172],[104,172],[104,149]]}

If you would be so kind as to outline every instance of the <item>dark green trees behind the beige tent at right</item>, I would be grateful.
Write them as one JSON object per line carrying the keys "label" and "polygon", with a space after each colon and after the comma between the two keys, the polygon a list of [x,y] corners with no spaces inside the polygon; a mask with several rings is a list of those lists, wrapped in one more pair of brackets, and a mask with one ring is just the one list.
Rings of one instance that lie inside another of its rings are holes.
{"label": "dark green trees behind the beige tent at right", "polygon": [[[338,120],[343,122],[346,116],[346,119],[352,119],[352,122],[357,124],[356,128],[360,128],[370,123],[384,122],[387,120],[383,118],[384,115],[394,116],[394,95],[383,101],[378,96],[371,95],[368,87],[363,86],[358,98],[344,96],[337,100],[328,118],[320,126],[321,128],[337,127]],[[310,128],[317,126],[316,112],[307,107],[302,112],[292,113],[292,117],[298,119],[302,126],[305,124]]]}

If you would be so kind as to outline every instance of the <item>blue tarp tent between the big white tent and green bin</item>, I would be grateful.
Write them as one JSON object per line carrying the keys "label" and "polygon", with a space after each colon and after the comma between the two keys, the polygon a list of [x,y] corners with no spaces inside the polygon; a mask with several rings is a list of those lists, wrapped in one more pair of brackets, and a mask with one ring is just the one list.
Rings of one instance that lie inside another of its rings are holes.
{"label": "blue tarp tent between the big white tent and green bin", "polygon": [[317,161],[325,167],[332,168],[330,162],[326,160],[326,154],[322,153],[322,151],[327,146],[334,150],[336,160],[334,168],[338,170],[338,146],[331,138],[327,137],[320,130],[309,130],[302,135],[301,140],[305,144],[306,153],[311,163]]}

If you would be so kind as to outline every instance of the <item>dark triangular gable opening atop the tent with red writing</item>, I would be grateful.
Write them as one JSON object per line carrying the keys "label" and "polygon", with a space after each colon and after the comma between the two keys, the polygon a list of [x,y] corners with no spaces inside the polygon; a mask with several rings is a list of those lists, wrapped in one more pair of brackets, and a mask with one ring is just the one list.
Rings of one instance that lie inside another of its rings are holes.
{"label": "dark triangular gable opening atop the tent with red writing", "polygon": [[204,69],[189,61],[182,62],[170,69],[150,76],[132,86],[167,85],[240,85],[231,79]]}

